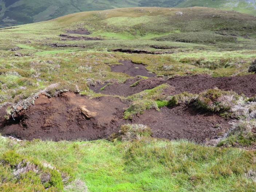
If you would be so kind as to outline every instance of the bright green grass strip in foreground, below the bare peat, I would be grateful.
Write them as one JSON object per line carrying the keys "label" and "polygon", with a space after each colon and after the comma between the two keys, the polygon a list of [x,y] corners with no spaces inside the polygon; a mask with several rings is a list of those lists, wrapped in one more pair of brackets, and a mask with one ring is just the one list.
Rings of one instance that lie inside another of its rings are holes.
{"label": "bright green grass strip in foreground, below the bare peat", "polygon": [[[123,133],[127,135],[126,131]],[[86,183],[91,192],[250,192],[256,187],[255,152],[153,139],[147,134],[137,139],[17,142],[0,137],[0,156],[12,150],[41,163],[72,170],[73,176]],[[11,171],[3,163],[0,167]],[[16,182],[7,181],[3,173],[2,184]]]}

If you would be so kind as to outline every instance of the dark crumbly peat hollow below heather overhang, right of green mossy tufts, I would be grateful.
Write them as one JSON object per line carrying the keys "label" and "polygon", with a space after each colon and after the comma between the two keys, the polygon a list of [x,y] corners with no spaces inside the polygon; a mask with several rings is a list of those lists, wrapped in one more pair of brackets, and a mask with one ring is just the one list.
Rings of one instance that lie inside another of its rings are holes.
{"label": "dark crumbly peat hollow below heather overhang, right of green mossy tufts", "polygon": [[161,112],[145,111],[133,118],[133,123],[148,125],[153,137],[188,139],[203,143],[205,139],[218,139],[218,134],[229,127],[227,121],[217,115],[200,113],[186,106],[164,107]]}

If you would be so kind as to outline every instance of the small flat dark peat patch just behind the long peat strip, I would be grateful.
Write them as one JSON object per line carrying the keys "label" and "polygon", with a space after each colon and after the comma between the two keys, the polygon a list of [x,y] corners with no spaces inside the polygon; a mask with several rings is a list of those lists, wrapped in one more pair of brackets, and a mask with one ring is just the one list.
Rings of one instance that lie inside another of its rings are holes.
{"label": "small flat dark peat patch just behind the long peat strip", "polygon": [[145,76],[145,77],[154,77],[155,76],[154,73],[150,73],[149,71],[147,71],[145,66],[142,64],[135,64],[129,60],[120,61],[120,62],[122,63],[122,65],[112,65],[111,71],[119,72],[119,73],[126,73],[133,77],[135,77],[137,75],[141,75],[141,76]]}

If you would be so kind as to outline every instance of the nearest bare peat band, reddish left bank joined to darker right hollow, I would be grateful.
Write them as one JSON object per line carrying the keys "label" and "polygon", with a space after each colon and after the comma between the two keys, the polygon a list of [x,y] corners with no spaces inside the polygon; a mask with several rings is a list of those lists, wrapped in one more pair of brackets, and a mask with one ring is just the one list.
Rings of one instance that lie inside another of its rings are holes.
{"label": "nearest bare peat band, reddish left bank joined to darker right hollow", "polygon": [[[34,106],[19,112],[15,120],[5,121],[0,132],[26,140],[96,140],[107,139],[122,124],[140,123],[148,125],[154,137],[202,143],[218,138],[228,127],[227,121],[217,115],[196,112],[182,105],[145,111],[132,120],[124,120],[123,111],[127,107],[128,103],[117,97],[90,100],[71,92],[54,98],[40,95]],[[82,108],[89,112],[82,112]]]}

